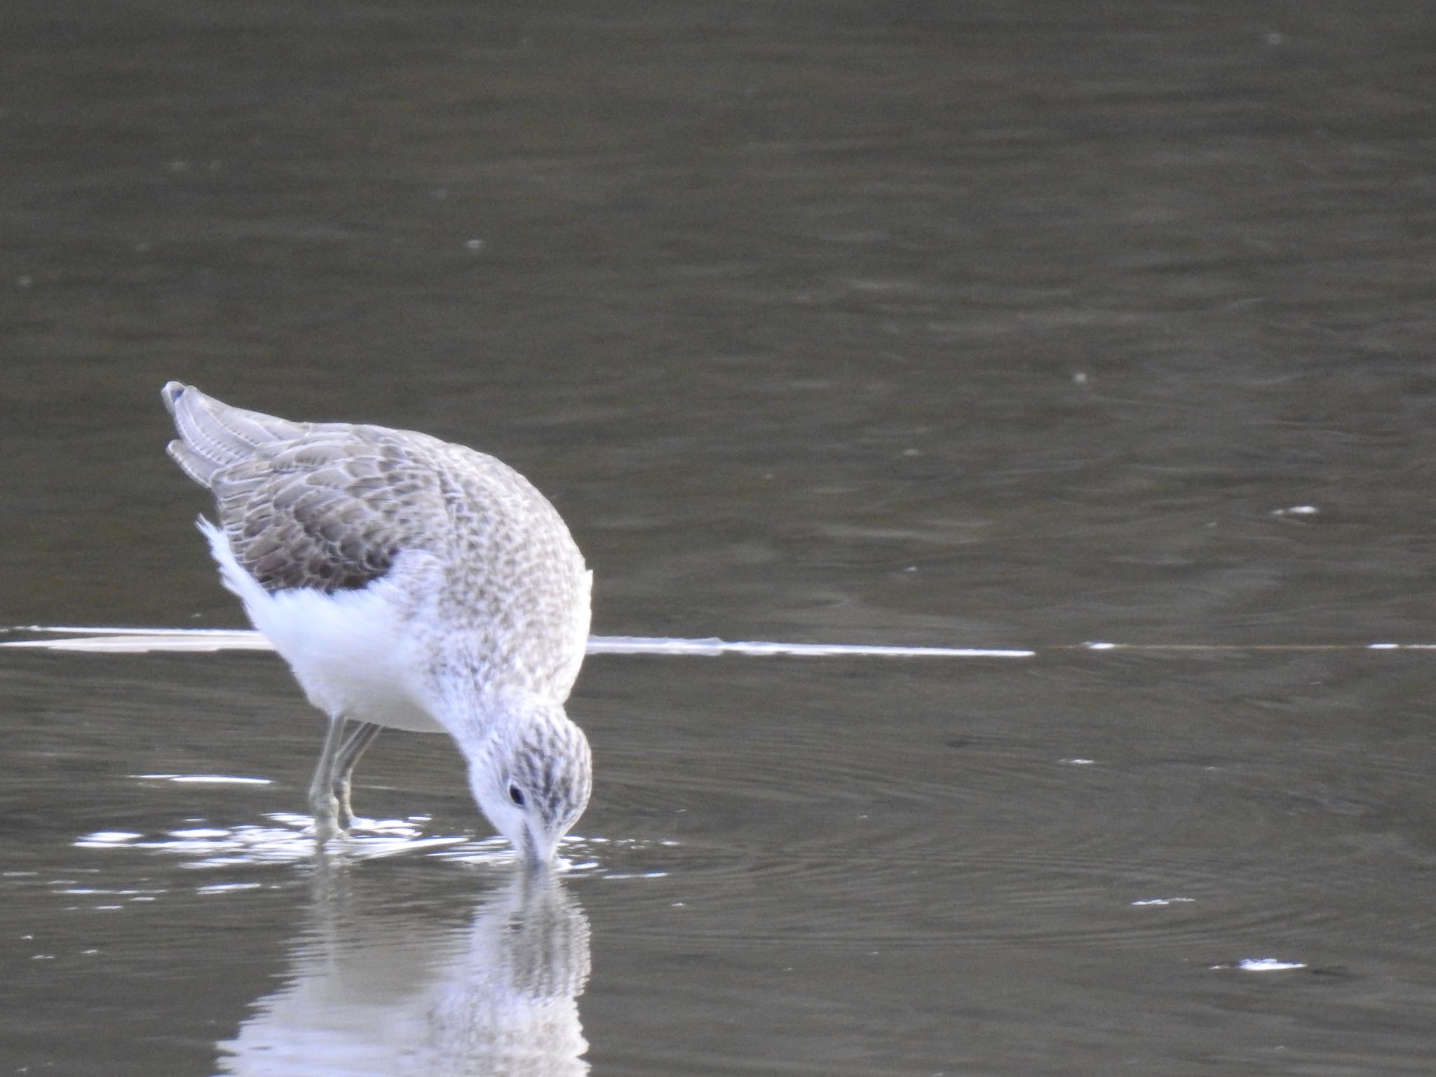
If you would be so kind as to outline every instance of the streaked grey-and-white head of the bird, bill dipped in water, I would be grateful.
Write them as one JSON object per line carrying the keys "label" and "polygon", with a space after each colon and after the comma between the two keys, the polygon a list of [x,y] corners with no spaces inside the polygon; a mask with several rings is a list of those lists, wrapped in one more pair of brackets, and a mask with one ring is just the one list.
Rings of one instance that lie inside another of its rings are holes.
{"label": "streaked grey-and-white head of the bird, bill dipped in water", "polygon": [[583,729],[563,707],[527,701],[491,717],[470,752],[468,785],[488,821],[533,867],[553,860],[593,788]]}

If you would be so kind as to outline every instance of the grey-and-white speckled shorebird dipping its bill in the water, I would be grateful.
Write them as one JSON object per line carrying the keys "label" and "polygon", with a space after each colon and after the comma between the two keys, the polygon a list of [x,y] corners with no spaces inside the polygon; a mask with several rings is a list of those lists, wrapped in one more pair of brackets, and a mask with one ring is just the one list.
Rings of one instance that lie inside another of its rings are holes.
{"label": "grey-and-white speckled shorebird dipping its bill in the water", "polygon": [[290,422],[169,382],[169,455],[214,493],[224,586],[329,715],[314,834],[353,821],[383,727],[447,732],[474,800],[530,864],[583,814],[589,741],[564,712],[593,573],[523,475],[428,434]]}

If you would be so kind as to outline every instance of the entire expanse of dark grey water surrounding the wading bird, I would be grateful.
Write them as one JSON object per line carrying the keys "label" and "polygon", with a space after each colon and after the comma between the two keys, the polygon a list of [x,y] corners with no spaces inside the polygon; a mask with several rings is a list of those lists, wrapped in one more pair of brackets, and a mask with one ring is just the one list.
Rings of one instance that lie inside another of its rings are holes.
{"label": "entire expanse of dark grey water surrounding the wading bird", "polygon": [[527,893],[439,738],[316,860],[270,655],[0,651],[0,1073],[1430,1071],[1429,6],[22,1],[0,72],[0,622],[241,623],[175,378],[503,457],[596,632],[1038,652],[593,656]]}

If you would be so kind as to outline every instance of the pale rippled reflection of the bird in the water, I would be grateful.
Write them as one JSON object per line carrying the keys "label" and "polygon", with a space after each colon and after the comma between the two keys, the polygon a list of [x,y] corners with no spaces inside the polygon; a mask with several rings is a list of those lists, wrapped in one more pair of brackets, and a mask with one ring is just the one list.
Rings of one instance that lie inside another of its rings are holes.
{"label": "pale rippled reflection of the bird in the water", "polygon": [[485,895],[468,928],[362,916],[327,923],[289,984],[256,1004],[220,1073],[236,1077],[580,1077],[589,920],[547,873]]}

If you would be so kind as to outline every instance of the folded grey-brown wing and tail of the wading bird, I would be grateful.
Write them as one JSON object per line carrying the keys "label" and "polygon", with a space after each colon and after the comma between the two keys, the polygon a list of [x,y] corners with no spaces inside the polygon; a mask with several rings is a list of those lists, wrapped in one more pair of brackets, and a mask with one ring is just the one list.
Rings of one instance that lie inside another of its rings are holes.
{"label": "folded grey-brown wing and tail of the wading bird", "polygon": [[236,560],[266,590],[363,587],[401,550],[442,533],[429,438],[383,426],[300,424],[171,382],[169,455],[214,493]]}

